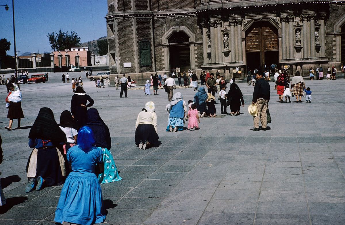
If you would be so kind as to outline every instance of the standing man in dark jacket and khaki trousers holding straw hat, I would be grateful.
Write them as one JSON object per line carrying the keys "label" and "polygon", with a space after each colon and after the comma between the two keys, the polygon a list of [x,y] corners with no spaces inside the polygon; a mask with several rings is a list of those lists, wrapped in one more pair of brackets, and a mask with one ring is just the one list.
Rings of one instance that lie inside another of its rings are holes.
{"label": "standing man in dark jacket and khaki trousers holding straw hat", "polygon": [[254,116],[254,129],[253,131],[259,131],[259,120],[261,120],[262,130],[267,129],[267,109],[269,102],[269,84],[263,78],[261,72],[256,73],[256,84],[253,92],[253,102],[257,107],[257,116]]}

